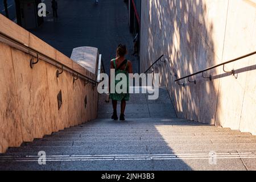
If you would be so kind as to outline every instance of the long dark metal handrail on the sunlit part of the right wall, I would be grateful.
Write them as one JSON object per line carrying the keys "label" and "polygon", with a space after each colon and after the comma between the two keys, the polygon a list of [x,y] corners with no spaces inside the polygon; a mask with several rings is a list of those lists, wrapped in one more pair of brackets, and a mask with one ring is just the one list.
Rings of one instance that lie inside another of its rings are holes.
{"label": "long dark metal handrail on the sunlit part of the right wall", "polygon": [[[195,75],[199,75],[200,73],[203,74],[204,72],[209,71],[209,70],[211,70],[211,69],[224,66],[225,64],[229,64],[229,63],[232,63],[232,62],[234,62],[234,61],[241,60],[241,59],[243,59],[243,58],[245,58],[245,57],[249,57],[249,56],[252,56],[252,55],[255,55],[255,54],[256,54],[256,51],[255,51],[255,52],[248,53],[247,55],[244,55],[244,56],[241,56],[241,57],[237,57],[236,59],[232,59],[232,60],[226,61],[225,63],[217,64],[217,65],[215,65],[215,66],[213,66],[213,67],[209,67],[209,68],[207,68],[207,69],[204,69],[204,70],[202,70],[202,71],[193,73],[193,74],[191,74],[191,75],[188,75],[188,76],[185,76],[185,77],[181,77],[181,78],[179,78],[179,79],[176,79],[175,82],[177,82],[177,81],[179,82],[180,80],[183,80],[183,79],[185,79],[185,78],[188,78],[188,79],[189,79],[189,77],[192,77],[192,76],[195,76]],[[225,69],[224,69],[224,71],[225,71]],[[226,71],[225,71],[225,72],[226,72]],[[226,72],[226,73],[231,73],[232,75],[235,75],[234,69],[233,69],[231,72]],[[204,77],[204,75],[203,75],[203,77]],[[209,78],[210,80],[212,80],[212,76],[210,76],[210,77],[204,77],[204,78]],[[189,81],[189,82],[191,82],[191,81]],[[192,82],[195,82],[195,84],[196,84],[196,81],[192,81]],[[183,84],[183,86],[184,86],[184,84]]]}

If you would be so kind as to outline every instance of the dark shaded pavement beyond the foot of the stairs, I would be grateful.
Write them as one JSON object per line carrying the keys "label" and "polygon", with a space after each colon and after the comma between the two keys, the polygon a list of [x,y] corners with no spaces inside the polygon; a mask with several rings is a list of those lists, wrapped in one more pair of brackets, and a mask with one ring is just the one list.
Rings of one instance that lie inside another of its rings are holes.
{"label": "dark shaded pavement beyond the foot of the stairs", "polygon": [[50,14],[42,26],[30,30],[45,42],[71,57],[72,49],[81,46],[97,47],[103,55],[106,72],[115,49],[124,43],[129,49],[127,59],[138,72],[138,59],[133,53],[133,35],[129,32],[128,10],[120,0],[104,0],[95,5],[93,0],[58,1],[59,18],[52,17],[51,1],[44,1]]}

